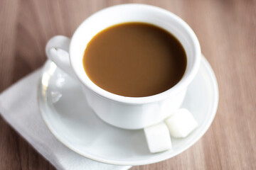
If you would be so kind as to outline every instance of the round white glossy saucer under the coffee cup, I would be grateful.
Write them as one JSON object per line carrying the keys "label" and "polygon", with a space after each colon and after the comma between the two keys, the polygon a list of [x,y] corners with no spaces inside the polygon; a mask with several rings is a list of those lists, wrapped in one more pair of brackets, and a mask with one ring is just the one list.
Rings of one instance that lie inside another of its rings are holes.
{"label": "round white glossy saucer under the coffee cup", "polygon": [[38,102],[49,130],[66,147],[98,162],[142,165],[174,157],[203,136],[218,107],[218,84],[205,57],[196,78],[188,86],[182,108],[188,108],[199,127],[184,139],[172,138],[173,149],[151,154],[143,130],[114,128],[97,118],[84,102],[80,84],[46,62],[38,89]]}

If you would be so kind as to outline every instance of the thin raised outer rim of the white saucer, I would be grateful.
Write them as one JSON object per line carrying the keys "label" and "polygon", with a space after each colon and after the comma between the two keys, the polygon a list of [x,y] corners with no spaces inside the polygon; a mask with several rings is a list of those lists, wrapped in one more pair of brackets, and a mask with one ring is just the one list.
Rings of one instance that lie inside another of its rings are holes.
{"label": "thin raised outer rim of the white saucer", "polygon": [[[46,67],[48,62],[50,62],[50,60],[46,61],[46,64],[43,66],[43,69]],[[195,137],[193,140],[191,140],[190,144],[186,145],[186,147],[183,147],[181,150],[176,152],[176,154],[169,154],[168,156],[159,155],[157,157],[154,157],[154,159],[150,158],[150,159],[140,160],[140,161],[114,161],[112,159],[102,159],[102,158],[98,159],[97,156],[93,156],[91,154],[85,154],[83,152],[80,152],[78,149],[75,149],[73,147],[66,145],[65,142],[63,142],[63,140],[61,140],[60,137],[58,137],[58,135],[55,135],[55,132],[53,132],[53,130],[48,125],[47,120],[43,115],[43,111],[41,111],[42,106],[41,106],[40,100],[42,99],[43,96],[40,92],[40,89],[42,86],[41,80],[42,80],[43,72],[42,72],[41,78],[39,79],[39,83],[38,83],[38,95],[37,95],[38,108],[39,108],[41,117],[43,118],[43,122],[46,124],[46,127],[48,128],[48,130],[50,130],[50,132],[53,134],[53,136],[65,147],[68,147],[68,149],[72,150],[73,152],[80,154],[82,157],[91,159],[96,162],[101,162],[101,163],[105,163],[105,164],[122,165],[122,166],[139,166],[139,165],[145,165],[145,164],[154,164],[156,162],[161,162],[166,159],[170,159],[171,157],[175,157],[176,155],[184,152],[186,149],[188,149],[189,147],[194,145],[196,142],[198,142],[198,140],[201,139],[201,137],[203,137],[203,135],[206,133],[206,131],[210,128],[211,123],[213,123],[213,119],[215,118],[215,114],[217,113],[218,101],[219,101],[218,82],[217,82],[217,79],[215,77],[212,67],[210,66],[209,62],[206,60],[206,57],[203,56],[203,54],[201,57],[201,64],[205,65],[206,70],[208,70],[208,76],[210,77],[211,81],[213,81],[213,95],[215,96],[215,98],[214,98],[213,104],[212,104],[212,111],[210,111],[210,113],[211,113],[210,118],[209,118],[208,122],[206,123],[205,128],[198,134],[197,137]],[[152,156],[153,155],[154,154],[152,154]]]}

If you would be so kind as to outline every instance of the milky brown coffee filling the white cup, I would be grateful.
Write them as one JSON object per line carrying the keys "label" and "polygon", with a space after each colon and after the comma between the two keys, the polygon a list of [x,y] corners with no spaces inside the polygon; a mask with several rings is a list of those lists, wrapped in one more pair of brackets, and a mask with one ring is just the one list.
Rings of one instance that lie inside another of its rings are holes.
{"label": "milky brown coffee filling the white cup", "polygon": [[178,40],[147,23],[122,23],[97,33],[83,57],[85,72],[113,94],[144,97],[170,89],[186,70]]}

